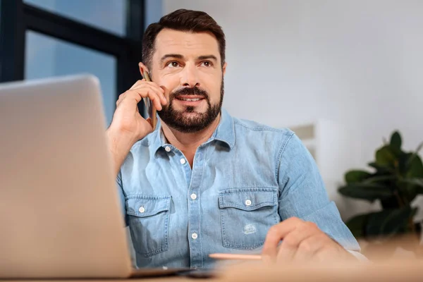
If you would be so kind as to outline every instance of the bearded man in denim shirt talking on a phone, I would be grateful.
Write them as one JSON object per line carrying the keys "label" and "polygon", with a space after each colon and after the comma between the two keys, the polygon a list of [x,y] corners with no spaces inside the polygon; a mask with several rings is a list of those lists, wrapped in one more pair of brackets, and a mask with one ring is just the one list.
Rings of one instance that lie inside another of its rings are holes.
{"label": "bearded man in denim shirt talking on a phone", "polygon": [[[221,109],[225,37],[213,18],[164,16],[142,55],[152,82],[120,95],[107,130],[138,266],[211,267],[214,252],[354,259],[347,250],[360,247],[298,137]],[[159,113],[154,130],[137,111],[144,97]]]}

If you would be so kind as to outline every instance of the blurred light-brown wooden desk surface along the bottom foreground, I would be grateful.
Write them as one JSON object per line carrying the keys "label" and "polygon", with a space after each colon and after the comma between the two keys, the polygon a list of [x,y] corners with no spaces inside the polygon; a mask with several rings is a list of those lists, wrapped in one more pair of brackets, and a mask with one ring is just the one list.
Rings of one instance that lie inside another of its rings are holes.
{"label": "blurred light-brown wooden desk surface along the bottom foreground", "polygon": [[[16,281],[16,280],[14,280]],[[60,280],[47,280],[55,282]],[[91,280],[66,280],[66,282],[98,282],[113,281],[111,279],[91,279]],[[120,279],[118,281],[142,281],[142,282],[168,282],[168,281],[348,281],[348,282],[393,282],[393,281],[423,281],[423,261],[421,260],[399,260],[378,263],[349,263],[349,264],[319,264],[297,265],[297,266],[266,266],[264,264],[243,264],[240,267],[231,267],[222,272],[218,278],[196,279],[179,276],[167,276],[160,278],[142,279]],[[29,282],[29,280],[25,280]],[[40,282],[40,280],[37,280]]]}

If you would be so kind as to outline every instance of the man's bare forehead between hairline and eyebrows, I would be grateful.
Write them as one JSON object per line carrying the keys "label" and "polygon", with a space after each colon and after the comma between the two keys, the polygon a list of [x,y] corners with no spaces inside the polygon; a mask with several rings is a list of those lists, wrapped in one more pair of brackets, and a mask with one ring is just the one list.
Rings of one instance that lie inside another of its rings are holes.
{"label": "man's bare forehead between hairline and eyebrows", "polygon": [[164,29],[155,42],[154,56],[181,54],[183,56],[215,55],[219,58],[219,44],[210,32],[183,32]]}

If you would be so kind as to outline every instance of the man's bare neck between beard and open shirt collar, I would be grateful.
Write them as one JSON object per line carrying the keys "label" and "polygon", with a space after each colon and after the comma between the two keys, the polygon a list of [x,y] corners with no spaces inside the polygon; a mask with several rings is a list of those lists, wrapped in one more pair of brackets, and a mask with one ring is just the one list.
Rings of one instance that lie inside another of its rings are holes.
{"label": "man's bare neck between beard and open shirt collar", "polygon": [[183,152],[192,167],[192,162],[194,161],[194,155],[197,148],[212,137],[214,130],[216,130],[219,125],[220,119],[221,114],[219,114],[219,116],[217,116],[217,118],[212,122],[212,124],[207,126],[207,128],[197,131],[196,133],[181,133],[174,128],[170,128],[163,122],[161,122],[161,128],[166,140]]}

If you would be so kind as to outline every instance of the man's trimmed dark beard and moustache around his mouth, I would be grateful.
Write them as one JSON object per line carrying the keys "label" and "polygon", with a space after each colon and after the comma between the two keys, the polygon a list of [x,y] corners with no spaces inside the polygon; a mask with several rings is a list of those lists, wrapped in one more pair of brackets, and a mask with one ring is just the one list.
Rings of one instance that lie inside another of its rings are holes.
{"label": "man's trimmed dark beard and moustache around his mouth", "polygon": [[[178,130],[181,133],[196,133],[204,128],[207,128],[219,116],[223,103],[223,78],[221,82],[221,97],[218,104],[210,104],[209,93],[201,90],[198,87],[182,88],[169,94],[169,102],[163,107],[158,114],[161,121],[166,123],[171,128]],[[180,95],[200,95],[204,97],[207,102],[207,111],[205,113],[195,112],[194,106],[185,106],[183,111],[176,111],[173,109],[173,100]],[[184,113],[195,113],[194,117],[186,117]]]}

